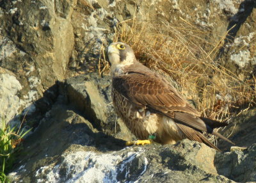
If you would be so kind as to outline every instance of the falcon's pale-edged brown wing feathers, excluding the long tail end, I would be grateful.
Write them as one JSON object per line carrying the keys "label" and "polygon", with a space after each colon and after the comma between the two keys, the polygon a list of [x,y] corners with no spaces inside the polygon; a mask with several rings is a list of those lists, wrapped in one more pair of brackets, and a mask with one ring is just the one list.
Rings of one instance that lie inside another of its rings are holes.
{"label": "falcon's pale-edged brown wing feathers, excluding the long tail end", "polygon": [[138,105],[161,112],[180,111],[199,116],[179,93],[159,76],[131,73],[113,77],[113,87],[124,97]]}

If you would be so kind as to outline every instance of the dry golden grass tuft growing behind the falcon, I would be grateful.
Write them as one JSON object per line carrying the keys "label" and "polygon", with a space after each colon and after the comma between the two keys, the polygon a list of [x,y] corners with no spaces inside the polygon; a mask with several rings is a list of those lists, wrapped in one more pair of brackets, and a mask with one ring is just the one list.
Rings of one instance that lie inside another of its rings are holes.
{"label": "dry golden grass tuft growing behind the falcon", "polygon": [[[209,31],[181,18],[180,22],[177,26],[167,22],[139,21],[135,17],[118,25],[113,41],[131,45],[139,61],[172,77],[182,95],[195,102],[202,116],[223,121],[254,105],[255,78],[241,81],[213,61],[225,35],[214,43],[207,42],[205,37]],[[205,51],[205,47],[209,51]],[[102,49],[99,72],[108,73],[108,70]]]}

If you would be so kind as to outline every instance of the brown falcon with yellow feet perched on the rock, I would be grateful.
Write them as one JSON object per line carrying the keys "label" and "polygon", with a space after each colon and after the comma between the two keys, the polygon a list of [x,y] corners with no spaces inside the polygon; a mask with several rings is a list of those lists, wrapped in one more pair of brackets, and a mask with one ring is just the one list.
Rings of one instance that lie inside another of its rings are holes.
{"label": "brown falcon with yellow feet perched on the rock", "polygon": [[232,143],[213,130],[226,123],[201,117],[170,82],[137,61],[129,45],[110,44],[108,58],[113,76],[113,106],[137,138],[153,136],[154,141],[161,144],[174,144],[188,138],[220,151],[202,134],[208,132]]}

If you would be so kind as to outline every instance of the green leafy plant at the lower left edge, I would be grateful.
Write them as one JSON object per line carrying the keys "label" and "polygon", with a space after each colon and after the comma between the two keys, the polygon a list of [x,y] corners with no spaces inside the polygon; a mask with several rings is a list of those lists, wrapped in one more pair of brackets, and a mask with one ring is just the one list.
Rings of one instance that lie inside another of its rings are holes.
{"label": "green leafy plant at the lower left edge", "polygon": [[6,173],[12,169],[15,157],[17,156],[17,150],[19,149],[19,143],[22,138],[28,134],[28,131],[20,131],[17,127],[10,127],[6,124],[5,120],[2,120],[3,128],[0,129],[0,182],[10,182]]}

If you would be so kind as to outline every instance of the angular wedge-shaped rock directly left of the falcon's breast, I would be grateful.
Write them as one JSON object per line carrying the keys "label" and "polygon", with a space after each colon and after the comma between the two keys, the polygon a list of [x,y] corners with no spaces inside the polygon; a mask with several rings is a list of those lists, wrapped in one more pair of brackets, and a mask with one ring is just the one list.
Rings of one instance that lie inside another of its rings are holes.
{"label": "angular wedge-shaped rock directly left of the falcon's breast", "polygon": [[100,77],[96,73],[80,75],[70,77],[59,85],[59,92],[67,97],[67,103],[76,107],[93,127],[116,138],[134,139],[111,104],[110,76]]}

